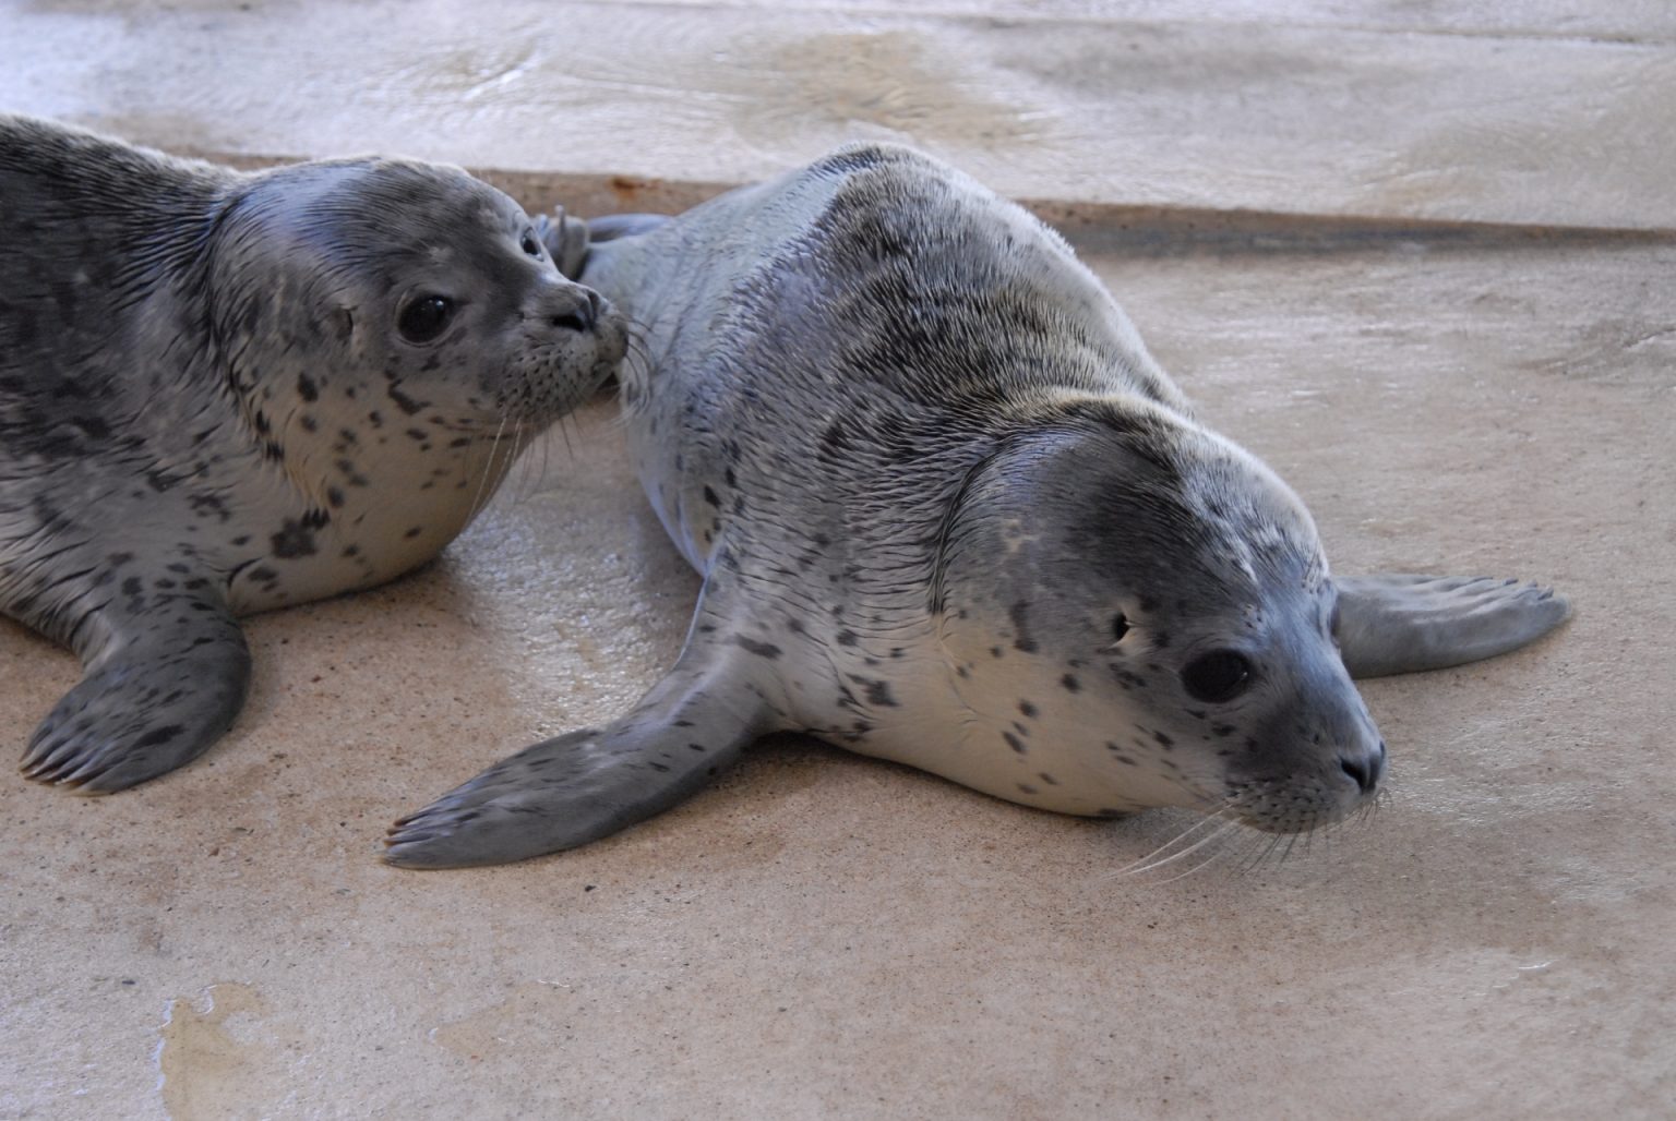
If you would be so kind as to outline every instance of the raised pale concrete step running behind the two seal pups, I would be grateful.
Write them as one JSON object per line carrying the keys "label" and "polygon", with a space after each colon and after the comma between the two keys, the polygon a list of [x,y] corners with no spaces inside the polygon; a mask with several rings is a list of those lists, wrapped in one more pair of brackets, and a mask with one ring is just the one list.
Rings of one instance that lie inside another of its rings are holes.
{"label": "raised pale concrete step running behind the two seal pups", "polygon": [[1656,3],[7,7],[10,107],[208,154],[742,183],[895,137],[1026,198],[1676,228]]}

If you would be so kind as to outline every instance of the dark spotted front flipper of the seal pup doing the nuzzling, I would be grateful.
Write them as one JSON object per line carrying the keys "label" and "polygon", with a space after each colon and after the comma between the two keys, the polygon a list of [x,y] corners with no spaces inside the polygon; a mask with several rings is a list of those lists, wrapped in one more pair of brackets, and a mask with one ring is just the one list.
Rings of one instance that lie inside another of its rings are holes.
{"label": "dark spotted front flipper of the seal pup doing the nuzzling", "polygon": [[250,648],[216,600],[129,593],[82,622],[82,680],[28,741],[23,774],[111,794],[201,756],[250,687]]}

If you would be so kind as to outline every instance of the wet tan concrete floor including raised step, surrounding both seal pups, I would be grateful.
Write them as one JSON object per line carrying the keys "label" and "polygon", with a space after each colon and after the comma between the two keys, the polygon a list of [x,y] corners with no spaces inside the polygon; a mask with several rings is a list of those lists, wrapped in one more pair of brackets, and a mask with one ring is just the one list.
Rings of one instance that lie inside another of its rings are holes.
{"label": "wet tan concrete floor including raised step, surrounding both seal pups", "polygon": [[[608,719],[679,647],[696,580],[602,400],[427,571],[251,620],[250,707],[198,764],[101,801],[0,783],[0,1116],[1676,1113],[1664,5],[0,8],[0,107],[251,161],[453,158],[531,206],[918,139],[1053,203],[1337,570],[1577,610],[1369,682],[1393,798],[1284,860],[1118,876],[1192,818],[1058,818],[788,739],[575,853],[391,870],[389,819]],[[523,69],[471,69],[496,50]],[[75,677],[0,622],[0,737]]]}

